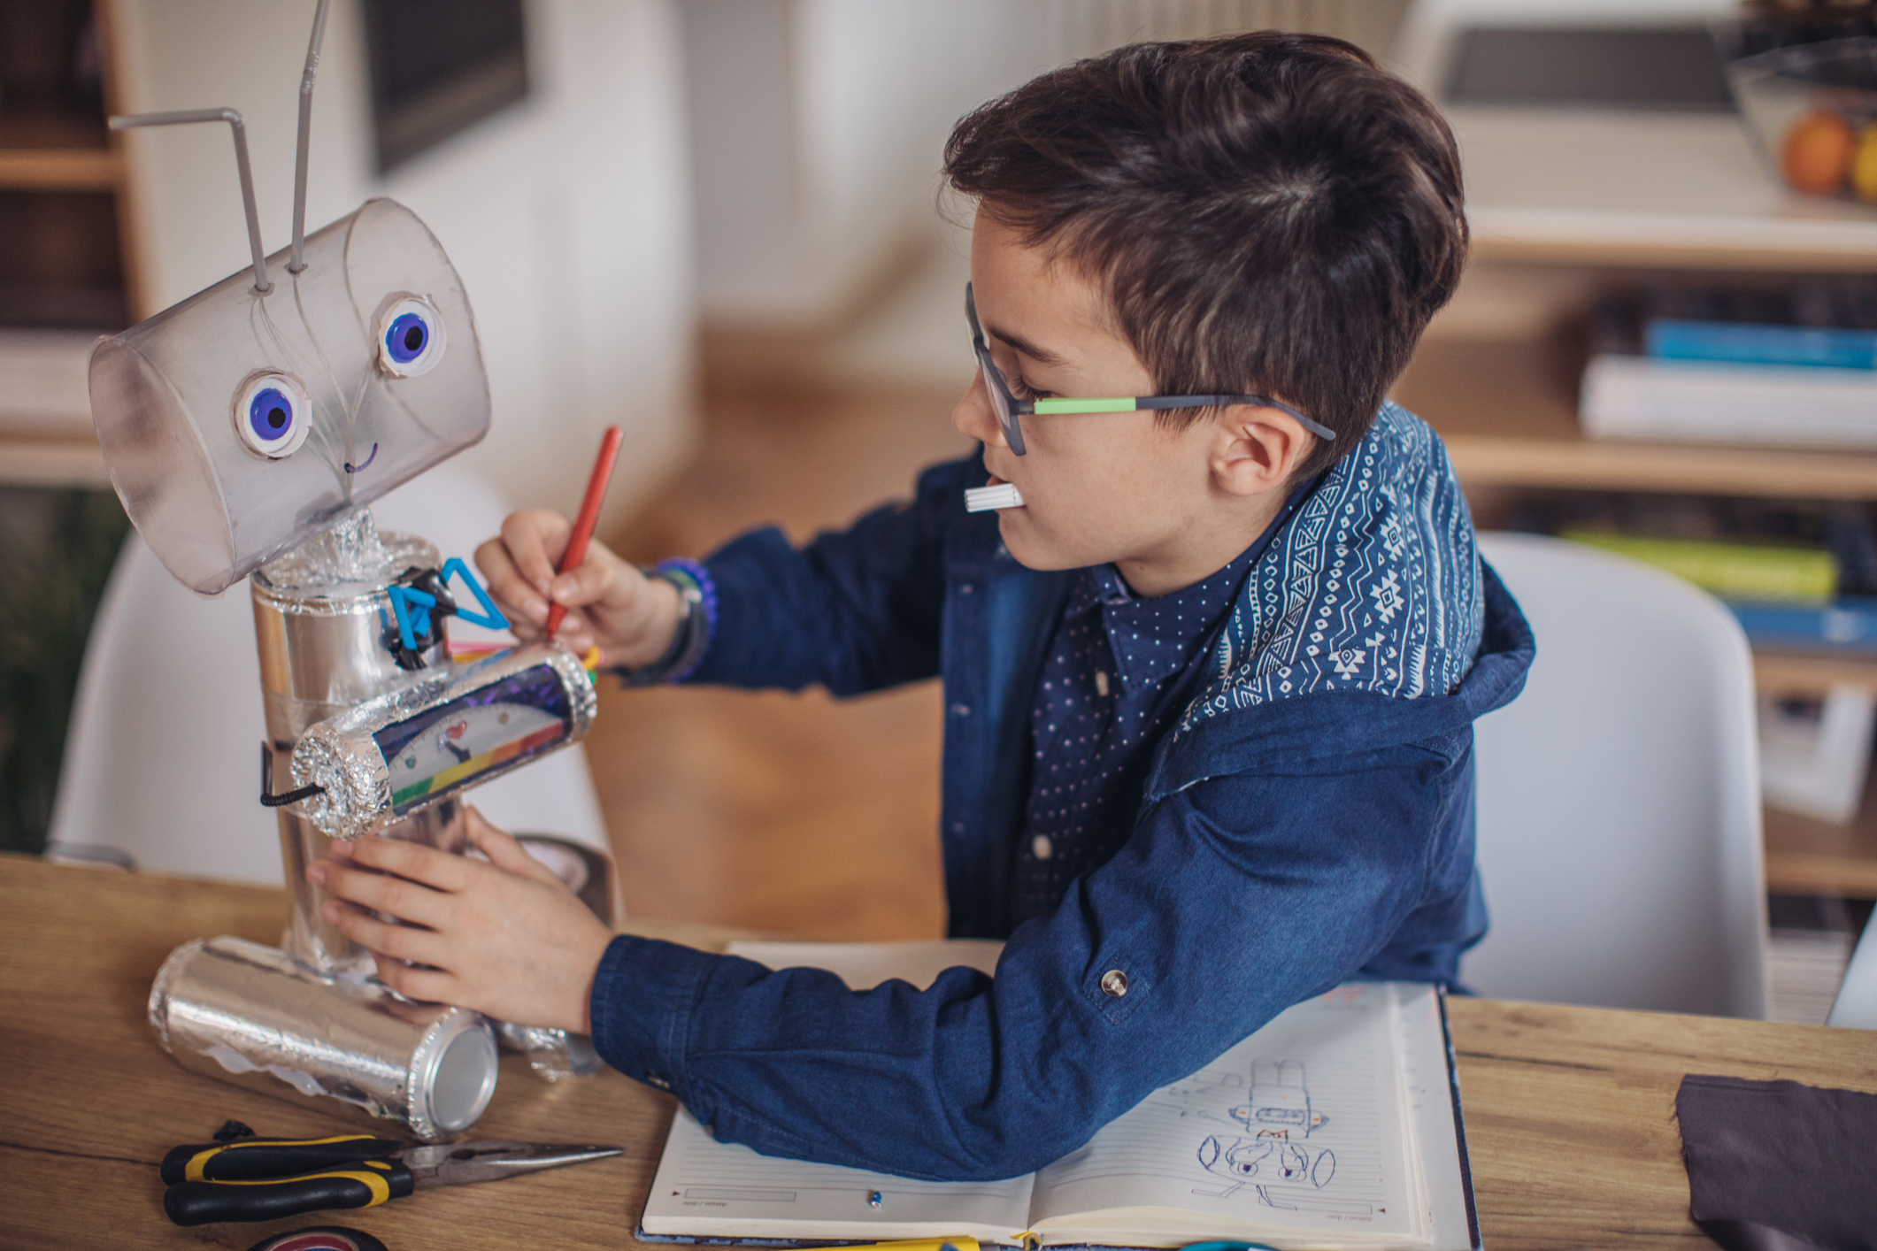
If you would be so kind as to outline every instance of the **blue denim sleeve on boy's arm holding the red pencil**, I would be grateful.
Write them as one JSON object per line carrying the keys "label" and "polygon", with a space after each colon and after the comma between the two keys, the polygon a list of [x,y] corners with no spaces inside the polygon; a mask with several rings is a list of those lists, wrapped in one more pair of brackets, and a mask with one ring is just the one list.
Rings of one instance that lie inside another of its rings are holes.
{"label": "blue denim sleeve on boy's arm holding the red pencil", "polygon": [[704,561],[717,630],[687,681],[822,685],[847,696],[935,677],[944,531],[963,518],[961,491],[976,463],[937,465],[910,501],[875,508],[803,548],[773,527],[725,544]]}

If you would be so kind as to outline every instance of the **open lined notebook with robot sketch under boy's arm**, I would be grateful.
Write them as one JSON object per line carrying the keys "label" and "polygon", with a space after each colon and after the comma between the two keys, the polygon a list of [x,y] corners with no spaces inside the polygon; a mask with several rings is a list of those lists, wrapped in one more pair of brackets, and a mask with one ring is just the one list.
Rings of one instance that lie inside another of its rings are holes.
{"label": "open lined notebook with robot sketch under boy's arm", "polygon": [[[999,943],[738,943],[867,988],[991,972]],[[1432,987],[1350,983],[1156,1090],[1047,1168],[910,1182],[717,1142],[679,1108],[640,1236],[1179,1247],[1479,1247],[1445,1011]]]}

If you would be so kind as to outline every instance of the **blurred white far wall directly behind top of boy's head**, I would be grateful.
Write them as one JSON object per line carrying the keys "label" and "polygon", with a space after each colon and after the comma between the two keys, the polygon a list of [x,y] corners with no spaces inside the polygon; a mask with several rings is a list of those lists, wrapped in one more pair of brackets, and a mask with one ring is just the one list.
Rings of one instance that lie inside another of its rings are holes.
{"label": "blurred white far wall directly behind top of boy's head", "polygon": [[685,0],[702,315],[771,328],[839,323],[895,255],[957,246],[933,212],[946,135],[1044,69],[1130,39],[1263,26],[1385,47],[1404,6]]}

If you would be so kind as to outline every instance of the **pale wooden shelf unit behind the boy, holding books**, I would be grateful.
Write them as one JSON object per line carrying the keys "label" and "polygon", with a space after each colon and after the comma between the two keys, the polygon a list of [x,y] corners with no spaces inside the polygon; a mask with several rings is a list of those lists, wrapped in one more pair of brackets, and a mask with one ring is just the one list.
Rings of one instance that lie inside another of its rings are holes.
{"label": "pale wooden shelf unit behind the boy, holding books", "polygon": [[[1866,274],[1877,212],[1789,195],[1731,116],[1451,114],[1473,263],[1395,398],[1440,430],[1483,527],[1534,490],[1877,503],[1877,454],[1586,439],[1592,300],[1661,278]],[[1877,662],[1757,655],[1763,692],[1877,688]],[[1776,893],[1877,898],[1877,786],[1853,825],[1766,812]]]}

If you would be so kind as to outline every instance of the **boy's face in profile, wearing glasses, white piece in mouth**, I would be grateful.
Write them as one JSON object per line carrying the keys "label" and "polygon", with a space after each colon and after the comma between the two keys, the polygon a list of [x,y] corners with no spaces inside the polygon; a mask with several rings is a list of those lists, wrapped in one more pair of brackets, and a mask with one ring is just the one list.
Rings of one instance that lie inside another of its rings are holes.
{"label": "boy's face in profile, wearing glasses, white piece in mouth", "polygon": [[[972,231],[970,278],[991,358],[1019,399],[1154,394],[1102,289],[1047,249],[1025,248],[984,212]],[[1218,454],[1241,413],[1181,424],[1160,424],[1152,413],[1025,414],[1027,452],[1015,456],[980,373],[952,424],[984,443],[993,484],[1014,482],[1023,493],[1025,506],[997,514],[1017,561],[1029,568],[1113,561],[1137,593],[1164,595],[1229,563],[1261,529],[1244,533],[1258,523],[1252,514],[1274,516],[1280,503],[1246,499],[1220,480]]]}

